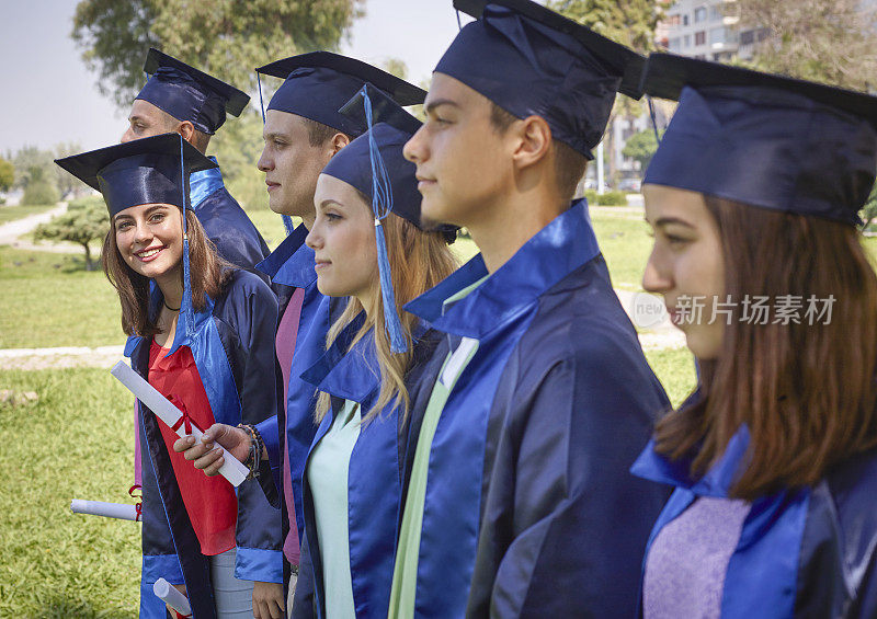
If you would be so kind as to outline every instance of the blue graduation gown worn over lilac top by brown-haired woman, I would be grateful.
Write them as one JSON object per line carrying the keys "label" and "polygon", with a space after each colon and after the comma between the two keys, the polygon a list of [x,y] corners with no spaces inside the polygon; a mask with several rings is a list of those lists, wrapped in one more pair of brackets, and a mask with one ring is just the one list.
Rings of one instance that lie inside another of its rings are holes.
{"label": "blue graduation gown worn over lilac top by brown-haired woman", "polygon": [[[721,459],[695,480],[691,459],[668,460],[649,444],[631,472],[675,488],[649,548],[698,496],[728,496],[748,446],[749,432],[741,427]],[[842,462],[816,486],[755,500],[728,563],[722,618],[877,617],[875,496],[872,450]]]}

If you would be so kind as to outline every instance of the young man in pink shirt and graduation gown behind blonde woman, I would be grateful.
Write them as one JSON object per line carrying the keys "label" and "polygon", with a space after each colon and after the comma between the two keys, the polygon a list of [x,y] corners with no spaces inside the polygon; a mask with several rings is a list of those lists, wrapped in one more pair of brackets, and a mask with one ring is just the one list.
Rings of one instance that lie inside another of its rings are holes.
{"label": "young man in pink shirt and graduation gown behind blonde woman", "polygon": [[[272,278],[275,291],[281,290],[276,355],[283,371],[285,406],[257,428],[284,497],[284,557],[291,570],[287,580],[292,593],[304,532],[301,473],[317,432],[315,389],[300,376],[326,352],[330,325],[329,298],[317,289],[314,250],[305,244],[316,217],[317,179],[337,152],[365,131],[364,123],[339,110],[366,83],[400,105],[422,103],[426,93],[366,62],[329,51],[293,56],[257,71],[285,78],[265,112],[265,147],[259,160],[259,169],[265,173],[269,205],[275,213],[303,221],[259,264]],[[388,112],[376,110],[375,122]],[[246,455],[250,448],[250,436],[239,428],[215,426],[205,436],[235,455]],[[204,449],[193,448],[186,457],[195,459],[195,466],[205,472],[215,473],[214,457],[205,456]]]}

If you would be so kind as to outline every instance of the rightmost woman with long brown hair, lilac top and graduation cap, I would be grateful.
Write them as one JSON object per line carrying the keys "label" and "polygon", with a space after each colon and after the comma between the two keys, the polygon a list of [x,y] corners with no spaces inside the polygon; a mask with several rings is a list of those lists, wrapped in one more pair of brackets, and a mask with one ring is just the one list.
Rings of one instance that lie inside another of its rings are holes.
{"label": "rightmost woman with long brown hair, lilac top and graduation cap", "polygon": [[877,276],[856,229],[877,99],[652,55],[661,294],[699,366],[634,473],[674,485],[642,616],[877,615]]}

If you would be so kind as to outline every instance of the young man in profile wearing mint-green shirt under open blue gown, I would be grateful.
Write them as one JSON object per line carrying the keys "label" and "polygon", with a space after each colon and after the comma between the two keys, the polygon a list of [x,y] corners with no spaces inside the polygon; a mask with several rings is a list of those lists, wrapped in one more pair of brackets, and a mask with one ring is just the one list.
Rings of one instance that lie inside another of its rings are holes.
{"label": "young man in profile wearing mint-green shirt under open blue gown", "polygon": [[570,200],[641,66],[500,0],[433,73],[406,156],[423,217],[481,254],[407,306],[445,337],[413,394],[390,617],[635,615],[667,494],[628,469],[669,403]]}

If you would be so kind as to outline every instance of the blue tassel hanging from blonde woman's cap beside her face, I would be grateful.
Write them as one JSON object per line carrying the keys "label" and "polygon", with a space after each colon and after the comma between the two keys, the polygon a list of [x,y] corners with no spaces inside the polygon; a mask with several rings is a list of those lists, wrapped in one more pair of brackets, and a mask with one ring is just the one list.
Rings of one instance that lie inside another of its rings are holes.
{"label": "blue tassel hanging from blonde woman's cap beside her face", "polygon": [[375,243],[377,244],[377,268],[380,275],[380,297],[384,301],[384,328],[390,341],[390,351],[394,353],[405,353],[408,351],[408,342],[402,331],[402,321],[399,312],[396,311],[396,293],[392,289],[392,273],[387,255],[387,239],[384,236],[384,226],[380,220],[392,211],[392,185],[380,157],[377,141],[372,134],[372,100],[368,98],[368,89],[363,87],[363,107],[365,112],[365,123],[368,127],[368,159],[372,163],[372,210],[375,215]]}

